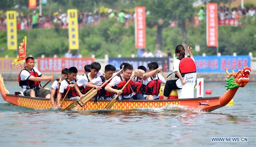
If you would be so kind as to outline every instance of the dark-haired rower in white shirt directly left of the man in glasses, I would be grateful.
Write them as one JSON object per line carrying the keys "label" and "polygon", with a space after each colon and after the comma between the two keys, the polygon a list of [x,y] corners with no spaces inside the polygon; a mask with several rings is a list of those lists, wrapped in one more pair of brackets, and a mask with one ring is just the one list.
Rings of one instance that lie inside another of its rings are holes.
{"label": "dark-haired rower in white shirt directly left of the man in glasses", "polygon": [[98,99],[112,99],[114,93],[113,92],[109,92],[105,90],[105,87],[107,86],[107,84],[111,81],[109,81],[108,83],[106,83],[102,88],[100,87],[103,83],[105,83],[108,79],[110,79],[113,74],[115,73],[116,68],[113,65],[106,65],[105,66],[105,76],[100,76],[98,78],[95,78],[94,80],[90,81],[89,83],[86,84],[86,87],[91,87],[91,88],[95,88],[98,90]]}

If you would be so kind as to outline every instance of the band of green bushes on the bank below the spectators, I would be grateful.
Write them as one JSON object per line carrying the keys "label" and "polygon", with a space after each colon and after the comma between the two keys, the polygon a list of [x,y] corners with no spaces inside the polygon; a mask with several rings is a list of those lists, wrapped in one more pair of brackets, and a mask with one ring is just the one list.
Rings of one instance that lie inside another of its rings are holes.
{"label": "band of green bushes on the bank below the spectators", "polygon": [[[244,23],[243,27],[219,26],[219,52],[222,55],[248,55],[253,52],[256,54],[256,29],[255,24]],[[146,49],[151,52],[155,50],[156,41],[155,28],[146,28]],[[69,48],[67,29],[31,29],[18,31],[18,44],[27,36],[27,55],[40,57],[52,57],[54,54],[64,57]],[[1,57],[8,55],[16,57],[16,50],[7,50],[7,33],[0,31],[0,48],[4,48]],[[122,27],[114,20],[103,20],[97,27],[84,27],[79,29],[80,54],[83,57],[91,57],[95,54],[97,58],[104,58],[105,54],[109,57],[131,57],[137,54],[134,41],[134,25],[129,28]],[[206,46],[206,23],[202,22],[198,27],[187,26],[187,42],[200,46],[200,52],[193,51],[194,55],[216,55],[216,48]],[[163,29],[163,52],[170,48],[172,54],[174,48],[182,44],[182,34],[179,27],[166,27]],[[72,50],[75,54],[77,50]]]}

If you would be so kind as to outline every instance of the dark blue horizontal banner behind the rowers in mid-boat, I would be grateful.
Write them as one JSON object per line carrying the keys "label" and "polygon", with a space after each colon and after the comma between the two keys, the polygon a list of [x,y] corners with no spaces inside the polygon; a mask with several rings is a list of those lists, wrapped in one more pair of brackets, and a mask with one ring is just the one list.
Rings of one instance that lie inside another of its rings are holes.
{"label": "dark blue horizontal banner behind the rowers in mid-boat", "polygon": [[109,58],[108,64],[114,65],[116,70],[120,69],[122,62],[128,62],[133,66],[133,69],[138,69],[140,65],[145,66],[148,69],[148,63],[155,61],[158,66],[163,67],[164,72],[169,71],[169,58]]}

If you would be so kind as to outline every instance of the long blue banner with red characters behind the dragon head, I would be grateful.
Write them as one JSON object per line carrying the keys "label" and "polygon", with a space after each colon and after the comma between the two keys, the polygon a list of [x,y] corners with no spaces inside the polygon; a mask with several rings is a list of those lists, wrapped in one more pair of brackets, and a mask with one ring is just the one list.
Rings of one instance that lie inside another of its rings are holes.
{"label": "long blue banner with red characters behind the dragon head", "polygon": [[194,56],[197,73],[223,73],[225,68],[237,72],[239,69],[251,67],[251,57],[239,56]]}

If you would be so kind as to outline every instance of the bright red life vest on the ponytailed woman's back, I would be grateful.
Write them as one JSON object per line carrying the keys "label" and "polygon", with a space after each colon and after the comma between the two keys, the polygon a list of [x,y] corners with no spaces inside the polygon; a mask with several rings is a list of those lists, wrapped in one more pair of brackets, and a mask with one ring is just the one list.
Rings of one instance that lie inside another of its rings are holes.
{"label": "bright red life vest on the ponytailed woman's back", "polygon": [[[196,72],[196,64],[190,56],[184,57],[182,59],[181,58],[177,58],[177,59],[181,60],[179,64],[179,71],[181,73],[181,76],[184,76],[187,73]],[[175,77],[179,78],[176,74],[175,74]]]}

